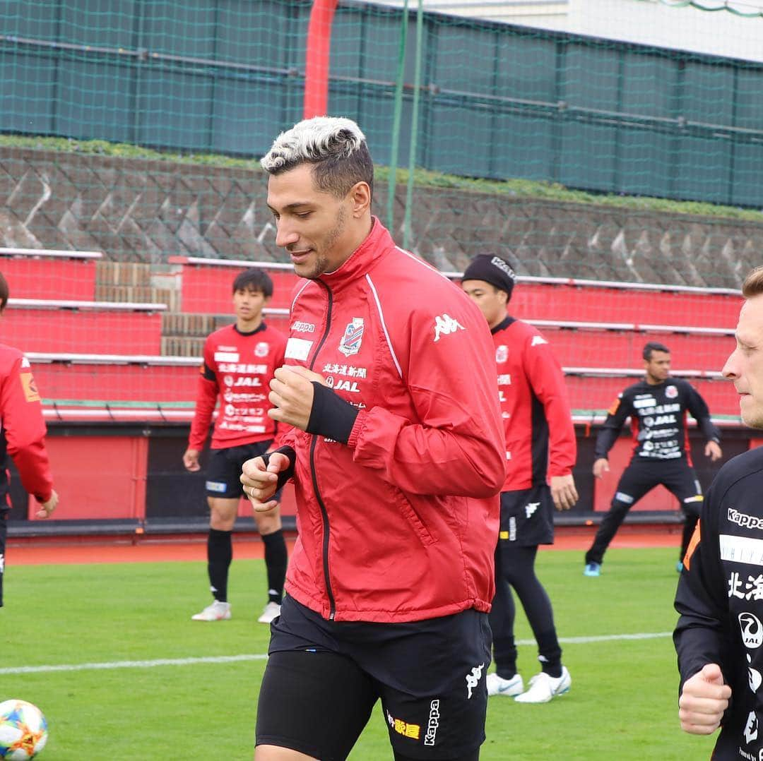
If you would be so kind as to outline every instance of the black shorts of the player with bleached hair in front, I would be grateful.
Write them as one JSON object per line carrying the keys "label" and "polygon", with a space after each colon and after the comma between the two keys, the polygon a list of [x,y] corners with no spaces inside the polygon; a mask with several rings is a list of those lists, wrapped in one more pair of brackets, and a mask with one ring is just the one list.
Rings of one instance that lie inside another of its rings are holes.
{"label": "black shorts of the player with bleached hair in front", "polygon": [[397,753],[453,759],[485,741],[488,615],[400,624],[327,621],[286,596],[271,625],[257,744],[345,759],[381,698]]}

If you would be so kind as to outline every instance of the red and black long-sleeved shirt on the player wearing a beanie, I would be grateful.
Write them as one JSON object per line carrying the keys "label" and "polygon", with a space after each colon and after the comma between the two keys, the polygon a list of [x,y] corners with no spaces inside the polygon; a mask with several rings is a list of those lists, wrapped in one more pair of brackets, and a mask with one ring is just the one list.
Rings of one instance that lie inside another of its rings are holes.
{"label": "red and black long-sleeved shirt on the player wearing a beanie", "polygon": [[506,434],[507,476],[501,491],[530,489],[547,477],[571,474],[578,450],[575,426],[564,374],[549,342],[510,316],[491,333]]}

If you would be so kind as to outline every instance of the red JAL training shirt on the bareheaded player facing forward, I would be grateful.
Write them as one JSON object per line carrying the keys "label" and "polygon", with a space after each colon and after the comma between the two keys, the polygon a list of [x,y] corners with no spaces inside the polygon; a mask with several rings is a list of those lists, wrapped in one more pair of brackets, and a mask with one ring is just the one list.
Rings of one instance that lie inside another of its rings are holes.
{"label": "red JAL training shirt on the bareheaded player facing forward", "polygon": [[217,398],[211,448],[227,449],[275,438],[268,416],[270,379],[284,363],[286,337],[262,323],[250,333],[229,325],[210,333],[196,392],[196,410],[188,446],[201,450],[207,440]]}

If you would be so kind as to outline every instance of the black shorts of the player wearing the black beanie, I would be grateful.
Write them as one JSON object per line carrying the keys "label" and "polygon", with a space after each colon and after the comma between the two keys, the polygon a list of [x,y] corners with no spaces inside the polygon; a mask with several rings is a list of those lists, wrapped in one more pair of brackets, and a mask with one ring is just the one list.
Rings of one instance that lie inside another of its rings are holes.
{"label": "black shorts of the player wearing the black beanie", "polygon": [[498,547],[536,547],[554,543],[554,500],[545,483],[501,493]]}

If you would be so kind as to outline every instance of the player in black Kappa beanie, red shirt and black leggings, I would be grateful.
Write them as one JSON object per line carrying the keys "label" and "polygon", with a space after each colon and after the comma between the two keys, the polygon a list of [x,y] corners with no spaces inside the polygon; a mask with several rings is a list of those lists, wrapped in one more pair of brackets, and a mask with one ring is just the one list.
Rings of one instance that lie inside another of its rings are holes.
{"label": "player in black Kappa beanie, red shirt and black leggings", "polygon": [[[506,434],[507,478],[501,490],[501,531],[495,552],[496,592],[490,614],[496,673],[488,695],[545,703],[571,685],[546,589],[535,573],[539,544],[554,541],[553,508],[578,500],[572,468],[577,446],[562,368],[533,326],[507,315],[516,275],[504,259],[480,254],[466,268],[462,288],[488,320],[495,344],[498,397]],[[524,692],[514,644],[519,596],[530,621],[542,671]]]}

